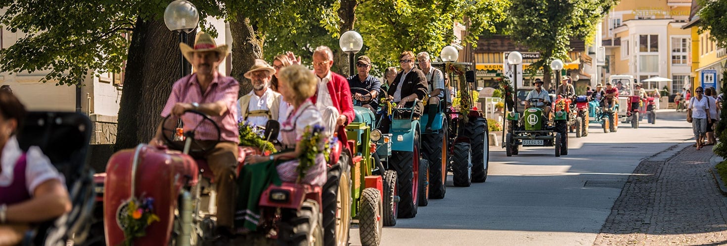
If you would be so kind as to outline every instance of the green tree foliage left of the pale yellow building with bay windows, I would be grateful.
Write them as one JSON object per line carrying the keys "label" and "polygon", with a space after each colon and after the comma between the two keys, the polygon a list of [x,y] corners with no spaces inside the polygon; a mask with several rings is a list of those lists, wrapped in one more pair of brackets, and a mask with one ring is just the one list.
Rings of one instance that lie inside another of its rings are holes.
{"label": "green tree foliage left of the pale yellow building with bay windows", "polygon": [[513,0],[509,33],[515,41],[540,52],[530,69],[550,70],[555,59],[567,60],[571,38],[590,43],[595,25],[618,0]]}

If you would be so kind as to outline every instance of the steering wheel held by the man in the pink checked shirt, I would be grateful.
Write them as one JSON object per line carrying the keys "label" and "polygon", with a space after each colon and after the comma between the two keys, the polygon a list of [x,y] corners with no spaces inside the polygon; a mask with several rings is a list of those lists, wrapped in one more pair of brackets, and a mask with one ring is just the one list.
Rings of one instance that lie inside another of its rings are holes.
{"label": "steering wheel held by the man in the pink checked shirt", "polygon": [[[220,143],[220,126],[217,125],[217,123],[214,122],[212,118],[209,118],[208,115],[197,110],[187,110],[184,115],[188,113],[192,113],[193,115],[188,115],[186,116],[187,118],[192,118],[193,120],[198,122],[196,126],[193,126],[191,128],[191,130],[184,132],[185,138],[192,138],[189,152],[206,152],[214,148],[214,146],[218,143]],[[166,144],[166,146],[169,146],[169,149],[183,151],[185,141],[180,139],[174,139],[173,137],[177,134],[177,128],[174,125],[179,118],[180,117],[173,116],[172,114],[166,115],[161,124],[161,134],[162,136],[164,136],[164,143]],[[201,118],[201,120],[198,120],[199,118]],[[217,134],[215,134],[217,136],[216,140],[203,142],[202,140],[195,138],[197,129],[202,125],[202,123],[204,123],[204,121],[209,121],[209,123],[212,123],[212,126],[214,126],[214,131],[217,131]]]}

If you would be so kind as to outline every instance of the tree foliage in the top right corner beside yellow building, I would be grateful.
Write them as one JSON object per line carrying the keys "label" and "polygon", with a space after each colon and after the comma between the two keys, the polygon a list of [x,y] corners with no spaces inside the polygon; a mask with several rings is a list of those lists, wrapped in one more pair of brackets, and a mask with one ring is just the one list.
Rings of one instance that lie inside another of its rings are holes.
{"label": "tree foliage in the top right corner beside yellow building", "polygon": [[727,1],[700,0],[699,5],[702,6],[699,9],[699,33],[708,31],[718,46],[727,46]]}

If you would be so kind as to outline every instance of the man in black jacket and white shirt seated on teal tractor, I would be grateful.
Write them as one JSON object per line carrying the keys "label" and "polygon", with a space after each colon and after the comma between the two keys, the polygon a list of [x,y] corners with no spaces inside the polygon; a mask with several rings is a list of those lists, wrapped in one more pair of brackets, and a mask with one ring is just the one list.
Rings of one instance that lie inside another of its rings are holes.
{"label": "man in black jacket and white shirt seated on teal tractor", "polygon": [[[419,70],[414,65],[414,52],[401,52],[401,55],[399,55],[399,64],[401,65],[401,72],[394,78],[394,82],[391,84],[387,94],[389,95],[389,99],[397,104],[397,107],[413,107],[414,117],[419,118],[422,116],[422,110],[424,109],[422,99],[429,93],[427,89],[427,78],[422,73],[422,70]],[[419,102],[414,105],[414,100],[416,99],[419,99]],[[380,126],[383,133],[389,133],[390,123],[390,118],[382,118]]]}

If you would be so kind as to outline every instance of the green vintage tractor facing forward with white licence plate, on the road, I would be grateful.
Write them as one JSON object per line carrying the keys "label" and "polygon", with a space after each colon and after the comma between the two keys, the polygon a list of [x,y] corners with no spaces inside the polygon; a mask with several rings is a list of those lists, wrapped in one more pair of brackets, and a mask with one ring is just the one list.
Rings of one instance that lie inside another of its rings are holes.
{"label": "green vintage tractor facing forward with white licence plate, on the road", "polygon": [[[531,103],[542,102],[542,99],[530,99]],[[547,116],[539,107],[529,107],[520,117],[519,112],[509,112],[507,132],[502,131],[505,136],[505,155],[518,155],[518,148],[529,146],[553,146],[555,156],[568,155],[568,112],[569,99],[556,101],[553,107],[554,126],[546,125]]]}

